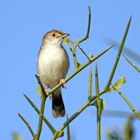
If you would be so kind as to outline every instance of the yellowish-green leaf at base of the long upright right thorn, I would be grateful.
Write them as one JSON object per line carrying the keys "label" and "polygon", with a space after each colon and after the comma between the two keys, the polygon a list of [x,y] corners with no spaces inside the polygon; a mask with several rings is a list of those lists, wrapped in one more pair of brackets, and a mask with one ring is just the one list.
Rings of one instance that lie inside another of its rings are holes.
{"label": "yellowish-green leaf at base of the long upright right thorn", "polygon": [[126,82],[126,78],[125,77],[121,77],[119,78],[115,84],[112,86],[112,88],[109,89],[109,92],[114,91],[115,89],[120,89],[122,87],[122,85]]}

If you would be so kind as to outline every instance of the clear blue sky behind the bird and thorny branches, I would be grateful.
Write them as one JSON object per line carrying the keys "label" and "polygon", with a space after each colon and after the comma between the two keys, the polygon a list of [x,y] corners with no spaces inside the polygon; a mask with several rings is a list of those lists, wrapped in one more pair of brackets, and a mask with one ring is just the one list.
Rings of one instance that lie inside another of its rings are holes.
{"label": "clear blue sky behind the bird and thorny branches", "polygon": [[[0,1],[0,139],[11,140],[11,133],[17,131],[23,139],[30,140],[31,136],[25,125],[18,118],[20,112],[30,122],[34,130],[37,129],[38,116],[23,97],[28,95],[37,106],[40,105],[39,95],[36,93],[37,81],[35,79],[36,61],[42,36],[51,29],[60,29],[71,34],[71,39],[77,40],[86,32],[87,7],[92,10],[90,39],[84,42],[83,47],[88,54],[97,54],[108,46],[103,42],[104,37],[121,41],[127,21],[132,15],[132,24],[125,45],[140,53],[140,2],[138,0],[5,0]],[[67,48],[66,48],[67,49]],[[73,61],[70,51],[69,74],[73,72]],[[100,88],[105,86],[109,76],[116,51],[111,50],[97,62],[99,66]],[[80,63],[87,60],[78,51]],[[95,68],[95,64],[91,67]],[[63,89],[63,98],[66,110],[71,116],[87,99],[87,81],[90,67],[86,68]],[[136,109],[140,109],[139,87],[140,75],[121,57],[113,81],[126,76],[126,83],[121,91],[128,97]],[[94,78],[93,78],[94,80]],[[93,82],[93,93],[95,91]],[[102,97],[106,101],[106,110],[130,111],[126,103],[116,93]],[[89,107],[76,120],[71,127],[72,140],[96,139],[95,108]],[[131,112],[131,111],[130,111]],[[54,119],[51,114],[51,101],[47,100],[45,115],[59,128],[65,118]],[[102,139],[105,140],[107,129],[123,130],[126,119],[102,118]],[[140,138],[138,130],[140,124],[135,121],[136,140]],[[50,139],[51,132],[43,125],[41,139]],[[66,137],[61,138],[65,140]]]}

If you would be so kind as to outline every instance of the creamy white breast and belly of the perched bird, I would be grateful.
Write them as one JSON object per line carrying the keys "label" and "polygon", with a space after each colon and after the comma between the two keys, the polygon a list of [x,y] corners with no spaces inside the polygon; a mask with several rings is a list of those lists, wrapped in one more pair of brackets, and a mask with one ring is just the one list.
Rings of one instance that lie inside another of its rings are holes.
{"label": "creamy white breast and belly of the perched bird", "polygon": [[66,51],[61,47],[42,48],[38,57],[38,74],[48,87],[57,85],[64,79],[69,68]]}

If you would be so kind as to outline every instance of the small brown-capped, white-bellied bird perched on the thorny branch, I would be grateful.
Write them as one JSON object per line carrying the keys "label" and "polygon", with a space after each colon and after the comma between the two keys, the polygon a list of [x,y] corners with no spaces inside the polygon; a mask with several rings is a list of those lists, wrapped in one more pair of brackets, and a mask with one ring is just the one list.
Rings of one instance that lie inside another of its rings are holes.
{"label": "small brown-capped, white-bellied bird perched on the thorny branch", "polygon": [[[65,84],[69,69],[69,57],[63,47],[63,41],[69,36],[60,30],[51,30],[43,36],[37,60],[37,74],[47,90],[57,84]],[[52,93],[52,114],[55,118],[65,116],[65,106],[61,87]]]}

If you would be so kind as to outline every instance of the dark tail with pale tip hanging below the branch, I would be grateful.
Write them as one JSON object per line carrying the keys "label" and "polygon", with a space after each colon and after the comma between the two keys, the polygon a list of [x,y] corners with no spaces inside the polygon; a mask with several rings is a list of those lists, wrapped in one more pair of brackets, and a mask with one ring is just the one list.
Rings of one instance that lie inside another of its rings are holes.
{"label": "dark tail with pale tip hanging below the branch", "polygon": [[61,89],[56,90],[52,94],[52,113],[55,118],[65,116],[65,106],[61,95]]}

